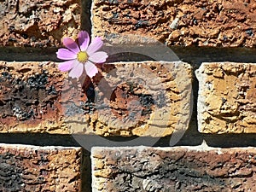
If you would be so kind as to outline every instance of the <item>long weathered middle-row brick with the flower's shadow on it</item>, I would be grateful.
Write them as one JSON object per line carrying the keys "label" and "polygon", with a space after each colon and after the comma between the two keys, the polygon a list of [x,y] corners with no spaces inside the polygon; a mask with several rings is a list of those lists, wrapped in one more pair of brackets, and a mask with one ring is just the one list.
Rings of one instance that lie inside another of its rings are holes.
{"label": "long weathered middle-row brick with the flower's shadow on it", "polygon": [[1,62],[0,131],[161,137],[188,128],[189,64],[99,67],[94,79],[77,81],[54,62]]}

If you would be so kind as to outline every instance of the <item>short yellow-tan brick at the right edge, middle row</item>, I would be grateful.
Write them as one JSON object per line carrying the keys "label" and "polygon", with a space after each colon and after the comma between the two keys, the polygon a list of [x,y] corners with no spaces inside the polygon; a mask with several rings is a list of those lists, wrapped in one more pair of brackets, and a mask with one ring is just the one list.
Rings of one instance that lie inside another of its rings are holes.
{"label": "short yellow-tan brick at the right edge, middle row", "polygon": [[199,131],[256,132],[255,63],[202,63],[196,76]]}

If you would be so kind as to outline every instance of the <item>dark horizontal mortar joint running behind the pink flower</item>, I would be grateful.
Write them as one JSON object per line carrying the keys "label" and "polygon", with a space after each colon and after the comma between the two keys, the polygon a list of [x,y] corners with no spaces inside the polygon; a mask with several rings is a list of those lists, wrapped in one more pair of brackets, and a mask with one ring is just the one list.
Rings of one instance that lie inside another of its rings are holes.
{"label": "dark horizontal mortar joint running behind the pink flower", "polygon": [[[132,49],[137,46],[118,46],[103,47],[107,53],[115,50],[127,50],[131,54],[119,53],[118,55],[110,55],[108,62],[113,61],[145,61],[150,60],[150,55],[139,55],[133,53]],[[155,49],[154,46],[143,47],[143,49]],[[166,47],[166,49],[168,49]],[[172,51],[182,61],[192,64],[200,64],[201,62],[212,61],[235,61],[235,62],[255,62],[256,49],[248,48],[213,48],[213,47],[171,47]],[[38,48],[0,48],[0,61],[61,61],[56,57],[57,48],[38,49]],[[160,53],[158,53],[160,54]],[[154,60],[153,58],[151,60]]]}

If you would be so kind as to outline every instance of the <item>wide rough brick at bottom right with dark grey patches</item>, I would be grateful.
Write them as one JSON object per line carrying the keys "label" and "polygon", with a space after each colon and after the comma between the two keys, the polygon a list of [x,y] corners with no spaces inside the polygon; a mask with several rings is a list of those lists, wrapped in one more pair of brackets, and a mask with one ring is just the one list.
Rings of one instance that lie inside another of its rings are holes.
{"label": "wide rough brick at bottom right with dark grey patches", "polygon": [[92,191],[253,191],[255,148],[92,148]]}

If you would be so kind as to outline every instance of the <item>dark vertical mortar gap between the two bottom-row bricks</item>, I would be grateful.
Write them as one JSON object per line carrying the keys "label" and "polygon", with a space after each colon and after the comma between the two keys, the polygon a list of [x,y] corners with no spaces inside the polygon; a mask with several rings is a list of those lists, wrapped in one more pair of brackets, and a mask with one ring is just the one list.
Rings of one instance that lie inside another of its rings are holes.
{"label": "dark vertical mortar gap between the two bottom-row bricks", "polygon": [[91,160],[90,151],[82,148],[81,154],[81,192],[91,192]]}

